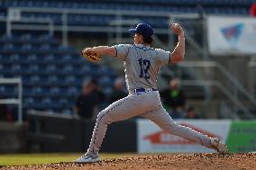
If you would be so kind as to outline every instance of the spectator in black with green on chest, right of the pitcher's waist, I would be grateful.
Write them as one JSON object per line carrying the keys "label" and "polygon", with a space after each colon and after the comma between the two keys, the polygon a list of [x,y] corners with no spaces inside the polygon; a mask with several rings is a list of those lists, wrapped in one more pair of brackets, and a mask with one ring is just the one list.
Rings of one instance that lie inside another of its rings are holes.
{"label": "spectator in black with green on chest, right of the pitcher's waist", "polygon": [[169,87],[160,92],[162,103],[173,119],[185,118],[186,98],[180,88],[178,78],[169,81]]}

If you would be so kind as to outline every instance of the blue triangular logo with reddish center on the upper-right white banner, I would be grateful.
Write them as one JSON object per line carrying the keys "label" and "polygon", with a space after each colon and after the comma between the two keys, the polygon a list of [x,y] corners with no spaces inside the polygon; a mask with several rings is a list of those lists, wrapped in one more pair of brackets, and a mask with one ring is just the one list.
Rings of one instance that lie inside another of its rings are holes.
{"label": "blue triangular logo with reddish center on the upper-right white banner", "polygon": [[225,40],[227,40],[228,43],[234,47],[237,41],[239,40],[243,29],[244,29],[244,24],[238,23],[231,27],[223,28],[221,29],[221,31],[224,35]]}

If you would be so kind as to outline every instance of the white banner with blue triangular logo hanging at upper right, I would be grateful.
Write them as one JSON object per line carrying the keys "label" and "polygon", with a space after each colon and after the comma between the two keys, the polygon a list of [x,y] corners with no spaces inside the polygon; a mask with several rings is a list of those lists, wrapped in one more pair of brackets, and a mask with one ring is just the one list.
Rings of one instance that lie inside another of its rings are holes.
{"label": "white banner with blue triangular logo hanging at upper right", "polygon": [[213,55],[256,54],[256,18],[209,16],[207,31]]}

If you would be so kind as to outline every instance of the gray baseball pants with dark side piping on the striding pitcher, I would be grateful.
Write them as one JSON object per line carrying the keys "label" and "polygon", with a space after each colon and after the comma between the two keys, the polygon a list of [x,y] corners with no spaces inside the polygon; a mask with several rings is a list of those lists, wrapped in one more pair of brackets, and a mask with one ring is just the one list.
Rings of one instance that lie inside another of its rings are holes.
{"label": "gray baseball pants with dark side piping on the striding pitcher", "polygon": [[206,148],[211,147],[209,137],[172,121],[169,113],[162,107],[159,92],[151,91],[129,94],[100,112],[96,119],[96,126],[87,152],[98,154],[108,124],[114,121],[127,120],[134,116],[147,118],[156,123],[162,130],[168,130],[173,135],[192,140]]}

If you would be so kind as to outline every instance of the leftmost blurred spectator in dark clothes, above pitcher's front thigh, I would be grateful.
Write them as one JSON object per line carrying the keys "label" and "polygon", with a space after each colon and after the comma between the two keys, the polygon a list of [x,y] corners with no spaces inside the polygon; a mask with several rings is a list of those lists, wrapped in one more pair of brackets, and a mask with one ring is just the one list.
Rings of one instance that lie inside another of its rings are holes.
{"label": "leftmost blurred spectator in dark clothes, above pitcher's front thigh", "polygon": [[95,79],[87,79],[82,85],[82,92],[73,107],[75,116],[84,120],[96,118],[97,106],[103,102],[105,95]]}

